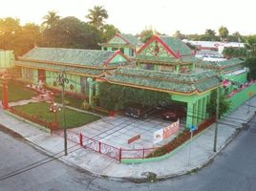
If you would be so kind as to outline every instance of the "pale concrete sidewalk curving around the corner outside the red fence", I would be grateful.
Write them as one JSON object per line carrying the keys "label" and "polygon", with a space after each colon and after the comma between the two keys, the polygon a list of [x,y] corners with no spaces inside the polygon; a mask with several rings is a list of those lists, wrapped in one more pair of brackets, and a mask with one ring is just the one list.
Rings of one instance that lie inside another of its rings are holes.
{"label": "pale concrete sidewalk curving around the corner outside the red fence", "polygon": [[[250,104],[253,107],[250,107],[249,113],[247,113],[248,106],[245,103],[220,121],[218,152],[234,138],[242,128],[242,124],[253,117],[256,111],[256,97],[250,100]],[[0,109],[0,123],[50,155],[59,156],[63,154],[63,138],[51,137],[50,133],[40,130],[35,124],[11,117],[10,114],[7,114],[2,109]],[[157,174],[158,179],[167,179],[201,168],[217,155],[218,152],[213,152],[214,127],[215,125],[213,124],[200,136],[193,138],[191,142],[174,152],[169,158],[159,161],[123,164],[89,149],[80,148],[79,145],[71,141],[68,141],[69,155],[60,159],[98,176],[146,180],[144,173],[153,172]]]}

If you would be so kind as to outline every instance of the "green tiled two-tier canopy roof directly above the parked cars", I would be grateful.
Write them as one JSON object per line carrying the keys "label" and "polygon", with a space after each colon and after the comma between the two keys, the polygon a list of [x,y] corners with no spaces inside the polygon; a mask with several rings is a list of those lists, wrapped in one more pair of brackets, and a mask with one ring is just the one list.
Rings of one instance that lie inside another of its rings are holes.
{"label": "green tiled two-tier canopy roof directly above the parked cars", "polygon": [[167,93],[195,94],[216,88],[219,80],[213,71],[174,74],[136,68],[118,69],[107,80],[113,84]]}

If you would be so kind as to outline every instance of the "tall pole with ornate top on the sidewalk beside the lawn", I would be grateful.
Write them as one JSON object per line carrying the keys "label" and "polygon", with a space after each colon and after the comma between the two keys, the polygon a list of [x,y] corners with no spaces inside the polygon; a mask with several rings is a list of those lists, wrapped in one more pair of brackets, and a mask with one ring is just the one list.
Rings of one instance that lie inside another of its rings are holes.
{"label": "tall pole with ornate top on the sidewalk beside the lawn", "polygon": [[56,83],[62,87],[61,91],[61,102],[62,102],[62,119],[63,119],[63,131],[64,131],[64,151],[65,156],[68,155],[68,145],[67,145],[67,129],[66,129],[66,113],[65,113],[65,101],[64,101],[64,90],[65,83],[69,83],[69,79],[66,77],[64,71],[61,72],[56,78]]}

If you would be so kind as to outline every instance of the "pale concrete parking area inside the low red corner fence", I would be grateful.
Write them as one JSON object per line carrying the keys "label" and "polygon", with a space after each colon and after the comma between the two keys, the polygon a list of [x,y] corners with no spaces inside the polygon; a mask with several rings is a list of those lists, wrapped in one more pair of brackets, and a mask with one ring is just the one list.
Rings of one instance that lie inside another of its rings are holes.
{"label": "pale concrete parking area inside the low red corner fence", "polygon": [[[93,123],[76,128],[75,131],[83,133],[86,137],[95,138],[106,144],[125,149],[152,148],[165,144],[175,138],[178,133],[170,138],[162,140],[158,144],[153,144],[154,132],[169,126],[173,121],[161,119],[158,115],[153,115],[145,119],[133,117],[103,117]],[[181,119],[181,129],[185,126],[185,120]],[[140,138],[131,144],[128,144],[130,138],[140,136]]]}

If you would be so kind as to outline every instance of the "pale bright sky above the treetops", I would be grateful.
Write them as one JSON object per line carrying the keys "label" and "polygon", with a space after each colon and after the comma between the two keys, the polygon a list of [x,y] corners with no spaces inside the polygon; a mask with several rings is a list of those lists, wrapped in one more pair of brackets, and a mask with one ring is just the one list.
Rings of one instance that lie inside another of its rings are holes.
{"label": "pale bright sky above the treetops", "polygon": [[[254,2],[253,2],[254,1]],[[61,17],[85,15],[94,6],[108,11],[106,23],[124,33],[139,33],[145,28],[172,35],[218,32],[221,26],[229,33],[256,33],[255,0],[0,0],[0,18],[17,17],[21,24],[42,23],[48,11]]]}

